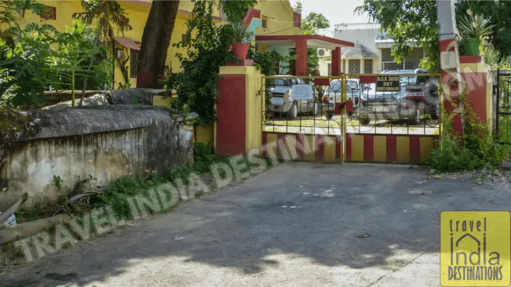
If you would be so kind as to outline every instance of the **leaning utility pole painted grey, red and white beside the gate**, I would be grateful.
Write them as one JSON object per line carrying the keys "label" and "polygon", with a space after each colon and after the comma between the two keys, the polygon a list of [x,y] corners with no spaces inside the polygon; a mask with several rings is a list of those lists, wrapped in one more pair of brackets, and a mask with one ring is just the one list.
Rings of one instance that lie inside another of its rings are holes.
{"label": "leaning utility pole painted grey, red and white beside the gate", "polygon": [[[456,17],[454,0],[437,0],[438,39],[440,41],[440,73],[442,74],[442,91],[444,109],[448,114],[454,131],[463,135],[463,106],[459,102],[461,94],[461,74],[459,68],[459,52],[456,37]],[[440,111],[442,112],[442,111]]]}

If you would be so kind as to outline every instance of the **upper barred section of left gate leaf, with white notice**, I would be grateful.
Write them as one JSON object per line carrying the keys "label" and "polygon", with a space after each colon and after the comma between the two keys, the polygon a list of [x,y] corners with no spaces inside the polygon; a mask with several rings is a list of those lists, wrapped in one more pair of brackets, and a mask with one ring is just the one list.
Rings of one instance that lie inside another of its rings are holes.
{"label": "upper barred section of left gate leaf, with white notice", "polygon": [[342,135],[335,107],[345,103],[344,83],[343,77],[264,77],[263,132]]}

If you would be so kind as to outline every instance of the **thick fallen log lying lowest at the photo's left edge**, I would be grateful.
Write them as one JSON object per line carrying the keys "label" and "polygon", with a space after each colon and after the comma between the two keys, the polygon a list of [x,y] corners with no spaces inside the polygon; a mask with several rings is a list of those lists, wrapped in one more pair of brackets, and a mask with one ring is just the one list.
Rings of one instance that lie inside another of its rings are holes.
{"label": "thick fallen log lying lowest at the photo's left edge", "polygon": [[16,226],[8,226],[0,230],[0,245],[20,240],[58,224],[65,225],[70,220],[71,218],[67,214],[59,214],[58,216],[21,223]]}

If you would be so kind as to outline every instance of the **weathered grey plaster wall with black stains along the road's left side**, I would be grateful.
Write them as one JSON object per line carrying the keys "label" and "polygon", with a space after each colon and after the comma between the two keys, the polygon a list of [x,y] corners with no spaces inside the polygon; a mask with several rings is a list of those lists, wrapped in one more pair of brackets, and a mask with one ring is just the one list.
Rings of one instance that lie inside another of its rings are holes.
{"label": "weathered grey plaster wall with black stains along the road's left side", "polygon": [[104,186],[145,170],[193,164],[192,128],[169,108],[10,111],[0,113],[0,122],[0,210],[24,192],[29,206],[56,201],[62,194],[54,176],[67,193],[88,175]]}

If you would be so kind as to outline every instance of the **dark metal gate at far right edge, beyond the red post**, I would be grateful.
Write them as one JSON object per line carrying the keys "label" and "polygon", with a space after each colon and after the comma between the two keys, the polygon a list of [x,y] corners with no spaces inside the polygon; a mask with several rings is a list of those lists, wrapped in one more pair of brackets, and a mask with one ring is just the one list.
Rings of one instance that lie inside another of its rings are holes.
{"label": "dark metal gate at far right edge, beyond the red post", "polygon": [[495,134],[500,143],[511,144],[511,73],[497,70]]}

